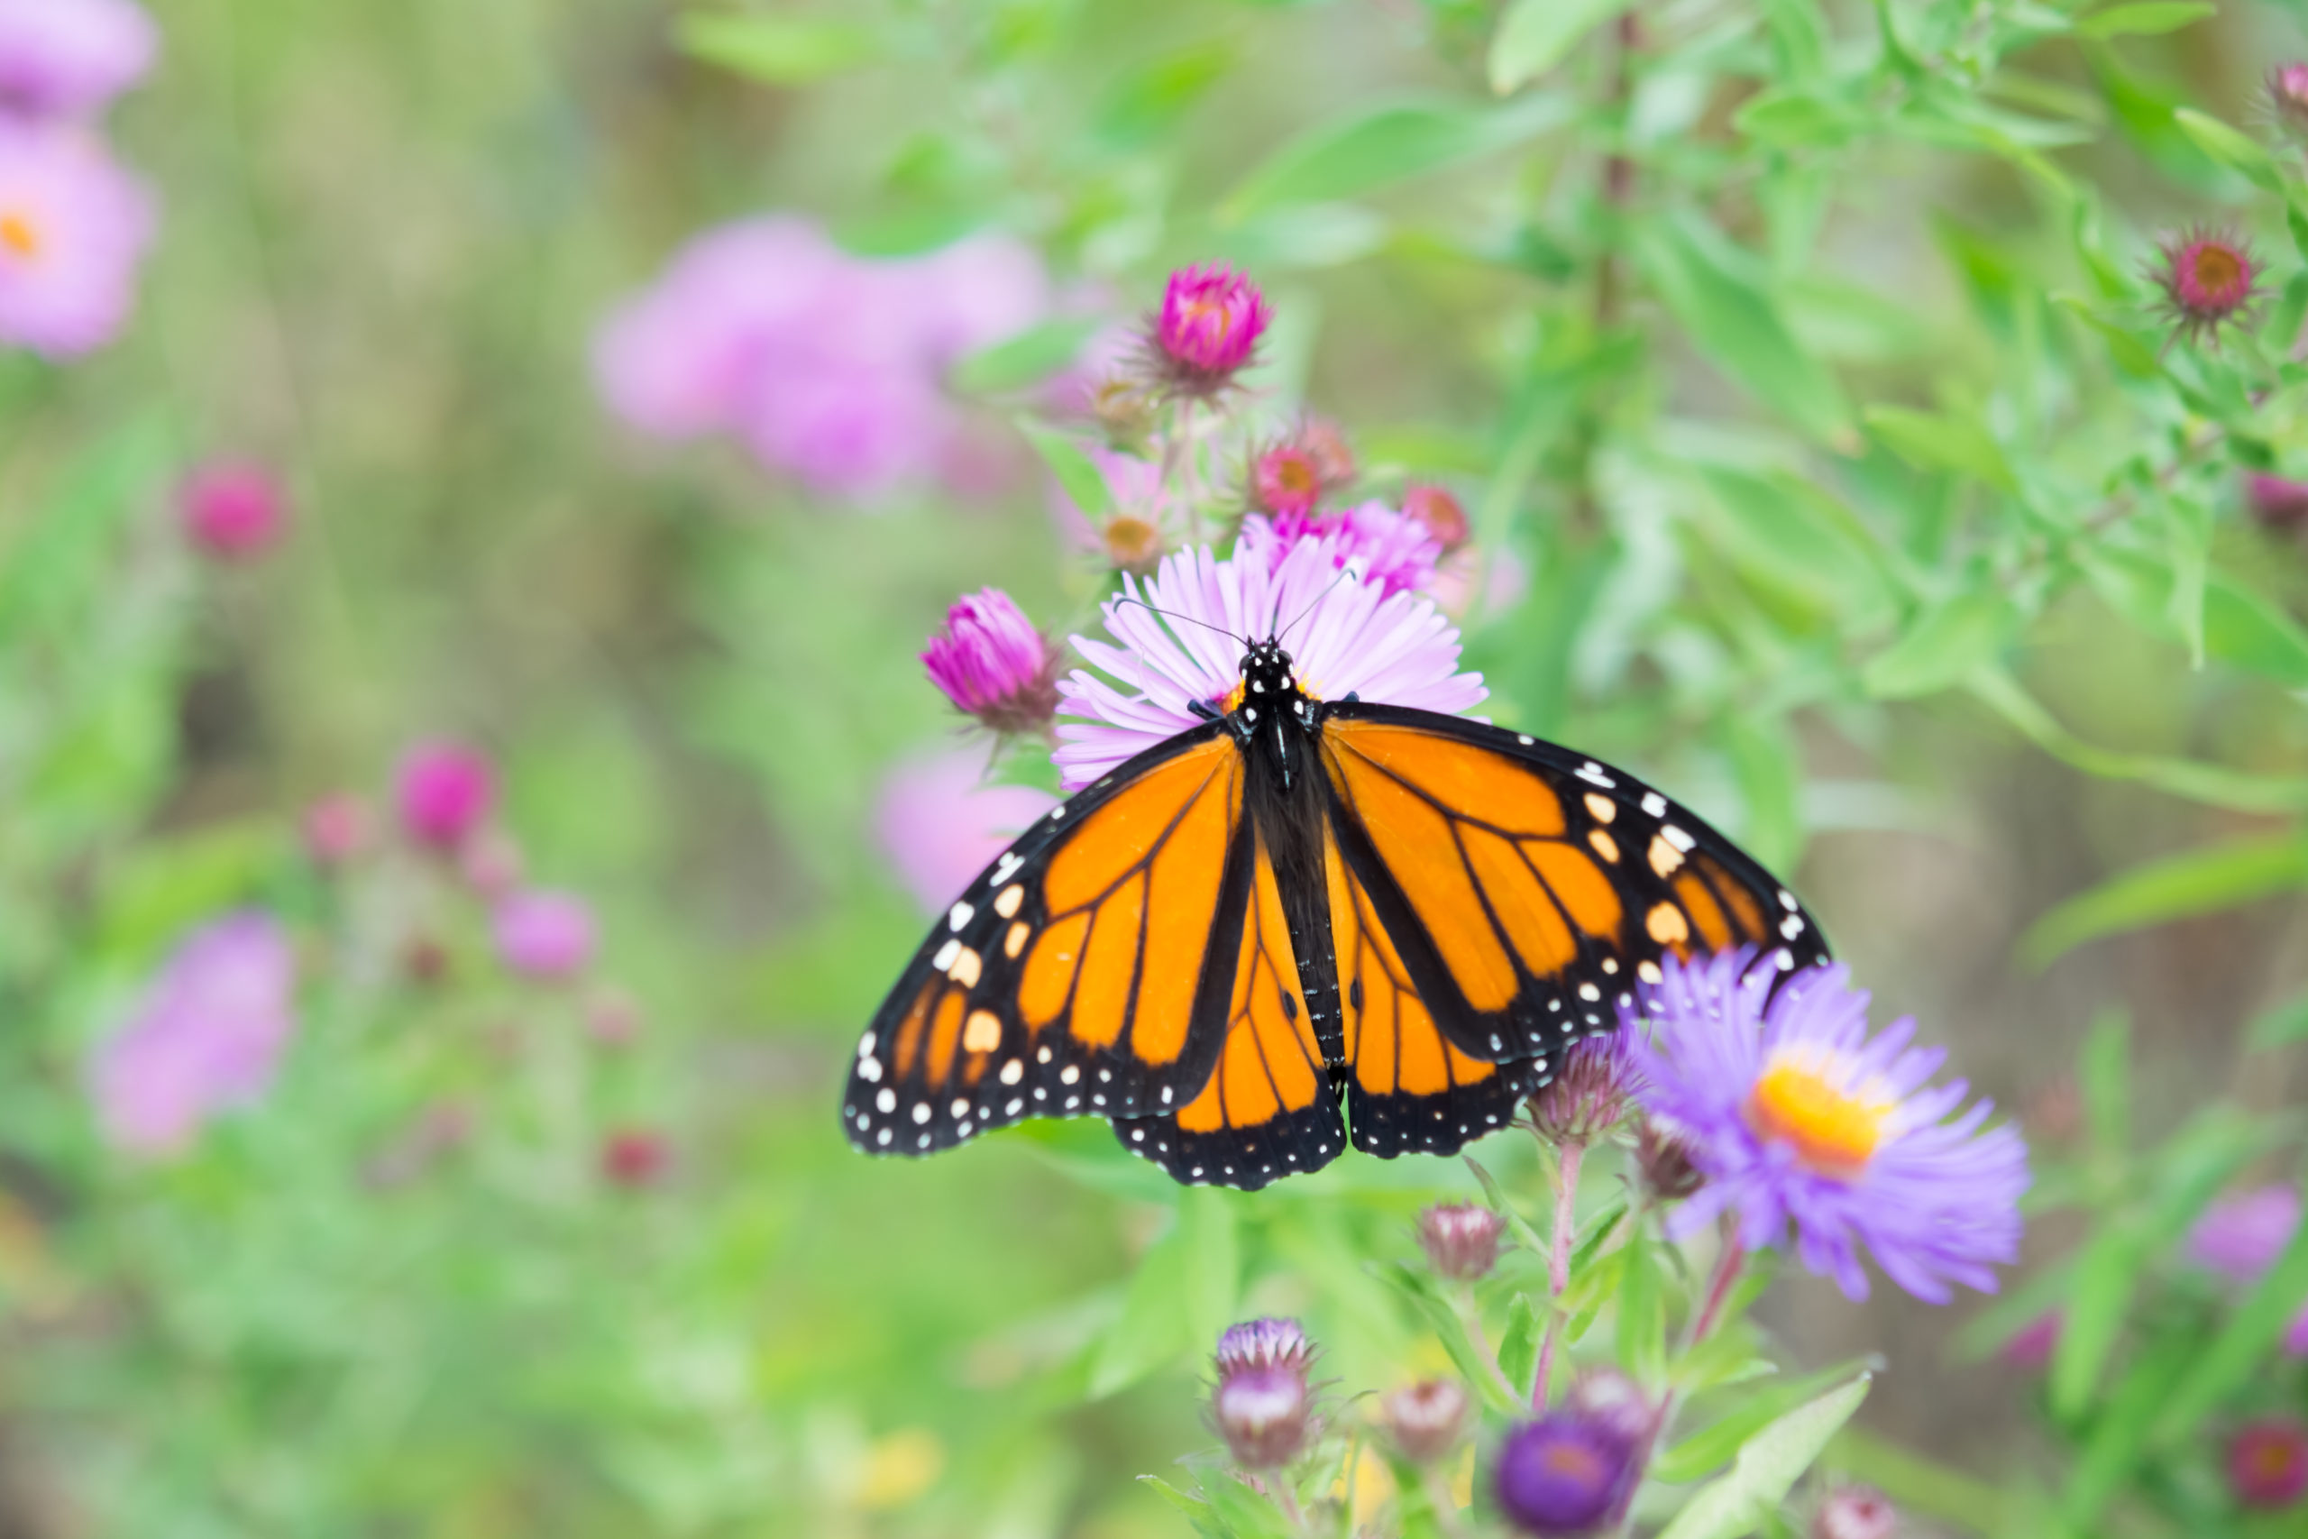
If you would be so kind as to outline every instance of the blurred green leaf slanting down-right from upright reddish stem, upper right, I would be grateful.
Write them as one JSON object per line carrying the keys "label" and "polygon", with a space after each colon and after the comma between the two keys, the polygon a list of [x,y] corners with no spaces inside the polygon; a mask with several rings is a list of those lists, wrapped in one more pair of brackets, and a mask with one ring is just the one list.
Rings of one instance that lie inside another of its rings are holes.
{"label": "blurred green leaf slanting down-right from upright reddish stem, upper right", "polygon": [[1796,341],[1761,261],[1692,212],[1646,224],[1634,254],[1708,362],[1812,438],[1851,436],[1842,385]]}

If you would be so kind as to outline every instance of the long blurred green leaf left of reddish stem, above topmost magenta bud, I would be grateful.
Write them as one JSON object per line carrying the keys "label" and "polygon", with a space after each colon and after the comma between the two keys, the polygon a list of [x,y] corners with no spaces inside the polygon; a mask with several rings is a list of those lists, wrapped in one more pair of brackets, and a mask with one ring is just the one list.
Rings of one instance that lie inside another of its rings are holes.
{"label": "long blurred green leaf left of reddish stem, above topmost magenta bud", "polygon": [[1228,194],[1228,222],[1286,203],[1329,203],[1442,166],[1507,150],[1576,115],[1576,102],[1535,92],[1505,106],[1412,99],[1371,106],[1306,129]]}

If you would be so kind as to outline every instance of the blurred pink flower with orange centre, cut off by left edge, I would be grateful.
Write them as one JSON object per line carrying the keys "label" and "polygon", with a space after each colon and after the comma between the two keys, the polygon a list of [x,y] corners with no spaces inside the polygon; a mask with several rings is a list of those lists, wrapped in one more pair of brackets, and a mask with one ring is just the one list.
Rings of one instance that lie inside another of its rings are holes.
{"label": "blurred pink flower with orange centre, cut off by left edge", "polygon": [[113,339],[152,198],[104,143],[0,120],[0,344],[74,358]]}

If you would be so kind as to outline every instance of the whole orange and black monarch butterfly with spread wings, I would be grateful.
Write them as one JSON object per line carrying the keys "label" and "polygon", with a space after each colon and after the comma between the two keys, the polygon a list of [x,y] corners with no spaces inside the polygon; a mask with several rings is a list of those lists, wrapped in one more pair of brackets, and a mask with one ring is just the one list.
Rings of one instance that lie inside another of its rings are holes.
{"label": "whole orange and black monarch butterfly with spread wings", "polygon": [[1052,808],[953,902],[859,1038],[852,1144],[1094,1114],[1175,1179],[1244,1191],[1348,1135],[1454,1154],[1659,958],[1828,958],[1793,893],[1632,775],[1313,699],[1272,635],[1239,671],[1223,713],[1198,704],[1200,727]]}

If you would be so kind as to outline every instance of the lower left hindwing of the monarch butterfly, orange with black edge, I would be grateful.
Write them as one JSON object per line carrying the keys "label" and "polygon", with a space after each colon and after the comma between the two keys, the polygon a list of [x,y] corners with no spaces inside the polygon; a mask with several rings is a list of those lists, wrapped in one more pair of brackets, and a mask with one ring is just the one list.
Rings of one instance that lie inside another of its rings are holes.
{"label": "lower left hindwing of the monarch butterfly, orange with black edge", "polygon": [[1339,1158],[1346,1126],[1306,1008],[1267,831],[1253,819],[1239,840],[1246,858],[1228,863],[1223,898],[1235,916],[1235,958],[1219,1059],[1191,1101],[1175,1112],[1115,1117],[1115,1135],[1179,1181],[1256,1191]]}

